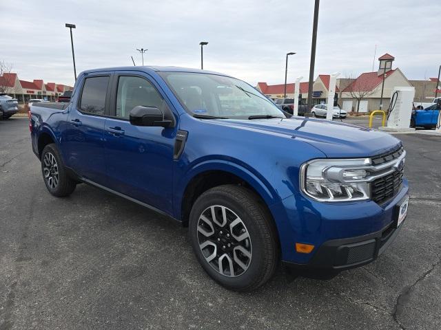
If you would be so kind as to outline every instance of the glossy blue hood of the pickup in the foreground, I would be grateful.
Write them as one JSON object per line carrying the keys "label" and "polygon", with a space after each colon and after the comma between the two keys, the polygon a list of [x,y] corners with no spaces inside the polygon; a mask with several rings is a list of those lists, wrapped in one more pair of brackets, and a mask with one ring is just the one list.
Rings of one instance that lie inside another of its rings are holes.
{"label": "glossy blue hood of the pickup in the foreground", "polygon": [[401,144],[400,140],[388,133],[313,118],[213,120],[213,122],[301,140],[318,148],[327,157],[333,158],[370,157],[391,151]]}

